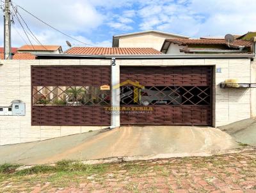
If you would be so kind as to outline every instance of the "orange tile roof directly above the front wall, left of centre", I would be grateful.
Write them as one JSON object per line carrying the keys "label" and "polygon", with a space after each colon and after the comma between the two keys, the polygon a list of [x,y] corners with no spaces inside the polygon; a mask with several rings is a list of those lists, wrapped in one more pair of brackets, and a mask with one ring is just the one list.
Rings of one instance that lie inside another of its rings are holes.
{"label": "orange tile roof directly above the front wall, left of centre", "polygon": [[72,47],[65,54],[84,55],[149,55],[163,54],[153,48],[124,48],[124,47]]}

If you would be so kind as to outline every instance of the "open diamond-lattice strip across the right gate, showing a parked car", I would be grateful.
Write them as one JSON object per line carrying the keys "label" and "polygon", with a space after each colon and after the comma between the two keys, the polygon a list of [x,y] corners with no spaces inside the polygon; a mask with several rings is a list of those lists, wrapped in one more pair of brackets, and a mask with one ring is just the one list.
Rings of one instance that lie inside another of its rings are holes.
{"label": "open diamond-lattice strip across the right gate, showing a parked car", "polygon": [[121,105],[209,105],[209,86],[122,86]]}

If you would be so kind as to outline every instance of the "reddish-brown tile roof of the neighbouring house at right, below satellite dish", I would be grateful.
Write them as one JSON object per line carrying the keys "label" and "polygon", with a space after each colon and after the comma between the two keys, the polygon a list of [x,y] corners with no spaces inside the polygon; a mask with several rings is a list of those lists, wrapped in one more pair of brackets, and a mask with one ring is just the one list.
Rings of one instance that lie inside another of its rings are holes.
{"label": "reddish-brown tile roof of the neighbouring house at right, below satellite dish", "polygon": [[[179,45],[188,45],[188,44],[218,44],[218,45],[227,45],[225,40],[221,39],[167,39],[165,42],[177,43]],[[245,46],[251,47],[252,42],[246,40],[235,40],[230,43],[231,46]]]}

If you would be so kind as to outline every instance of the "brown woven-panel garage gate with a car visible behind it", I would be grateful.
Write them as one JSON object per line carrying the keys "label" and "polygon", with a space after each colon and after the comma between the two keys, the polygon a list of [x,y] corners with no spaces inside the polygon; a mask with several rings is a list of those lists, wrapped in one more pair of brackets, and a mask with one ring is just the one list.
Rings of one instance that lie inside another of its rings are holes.
{"label": "brown woven-panel garage gate with a car visible behind it", "polygon": [[211,66],[122,66],[125,81],[121,125],[212,125]]}

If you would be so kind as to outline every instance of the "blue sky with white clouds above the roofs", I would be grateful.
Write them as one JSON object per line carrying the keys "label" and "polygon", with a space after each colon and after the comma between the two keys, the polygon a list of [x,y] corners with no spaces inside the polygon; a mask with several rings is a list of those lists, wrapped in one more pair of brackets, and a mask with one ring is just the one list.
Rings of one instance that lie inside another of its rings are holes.
{"label": "blue sky with white clouds above the roofs", "polygon": [[[99,47],[111,47],[112,36],[155,29],[199,38],[243,35],[256,31],[255,0],[12,0],[68,35]],[[0,10],[1,11],[1,10]],[[86,46],[18,11],[44,45]],[[1,12],[3,15],[3,12]],[[0,46],[3,46],[3,17]],[[19,22],[12,24],[12,46],[29,43]],[[36,44],[32,38],[31,42]]]}

